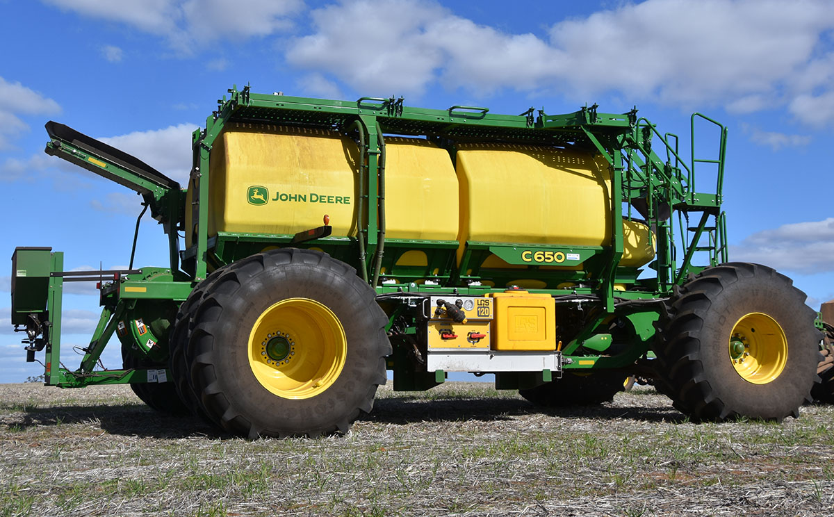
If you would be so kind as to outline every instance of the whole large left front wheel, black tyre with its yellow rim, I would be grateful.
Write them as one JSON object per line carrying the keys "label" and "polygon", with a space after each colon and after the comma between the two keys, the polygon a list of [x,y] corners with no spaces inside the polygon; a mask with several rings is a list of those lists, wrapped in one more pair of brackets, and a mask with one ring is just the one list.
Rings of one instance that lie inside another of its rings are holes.
{"label": "whole large left front wheel, black tyre with its yellow rim", "polygon": [[230,264],[193,314],[190,381],[208,417],[249,439],[346,433],[385,383],[388,319],[374,289],[325,253]]}

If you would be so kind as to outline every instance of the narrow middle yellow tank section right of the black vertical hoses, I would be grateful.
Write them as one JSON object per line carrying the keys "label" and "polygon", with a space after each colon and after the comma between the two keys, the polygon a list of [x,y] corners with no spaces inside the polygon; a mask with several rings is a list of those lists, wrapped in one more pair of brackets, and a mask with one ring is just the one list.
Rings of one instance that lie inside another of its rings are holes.
{"label": "narrow middle yellow tank section right of the black vertical hoses", "polygon": [[458,178],[445,149],[422,138],[385,138],[385,219],[386,239],[457,238]]}

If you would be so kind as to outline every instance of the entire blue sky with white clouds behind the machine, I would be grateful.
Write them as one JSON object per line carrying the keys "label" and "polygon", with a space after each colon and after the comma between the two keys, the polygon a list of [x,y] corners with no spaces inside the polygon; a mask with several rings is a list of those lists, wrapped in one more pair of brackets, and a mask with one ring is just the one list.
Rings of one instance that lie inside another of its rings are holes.
{"label": "entire blue sky with white clouds behind the machine", "polygon": [[[251,83],[494,113],[636,105],[685,142],[690,113],[709,114],[730,132],[731,259],[788,274],[815,309],[834,298],[830,1],[0,0],[0,9],[0,258],[52,246],[66,269],[128,264],[138,196],[43,153],[48,120],[182,181],[193,129],[232,84]],[[165,245],[144,221],[136,264],[164,265]],[[8,324],[10,269],[0,270],[0,382],[43,373],[24,362]],[[63,360],[74,369],[68,345],[87,343],[98,298],[73,284],[64,305]],[[103,360],[119,366],[117,344]]]}

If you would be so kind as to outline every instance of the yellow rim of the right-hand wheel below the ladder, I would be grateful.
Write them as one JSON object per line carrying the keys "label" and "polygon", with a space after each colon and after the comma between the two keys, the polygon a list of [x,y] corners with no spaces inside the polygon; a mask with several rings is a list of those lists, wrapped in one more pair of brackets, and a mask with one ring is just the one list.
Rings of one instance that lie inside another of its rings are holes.
{"label": "yellow rim of the right-hand wheel below the ladder", "polygon": [[772,382],[785,369],[785,332],[767,314],[746,314],[732,329],[730,360],[741,379],[752,384]]}

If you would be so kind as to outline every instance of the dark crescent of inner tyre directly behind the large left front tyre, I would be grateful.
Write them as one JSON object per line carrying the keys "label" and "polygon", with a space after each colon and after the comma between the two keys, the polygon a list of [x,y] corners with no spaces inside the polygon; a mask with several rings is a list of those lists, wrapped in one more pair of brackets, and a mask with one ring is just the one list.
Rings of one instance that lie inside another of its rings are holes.
{"label": "dark crescent of inner tyre directly behind the large left front tyre", "polygon": [[208,292],[208,289],[214,284],[214,280],[218,279],[222,273],[223,268],[215,269],[188,294],[188,299],[179,306],[168,342],[171,375],[179,398],[183,400],[183,403],[191,411],[191,414],[209,423],[212,422],[208,419],[208,415],[206,415],[205,409],[203,409],[203,404],[200,402],[197,394],[194,393],[189,381],[191,371],[188,368],[188,360],[186,359],[186,348],[188,347],[188,338],[193,329],[193,315],[197,311],[200,302],[203,301],[203,297]]}

